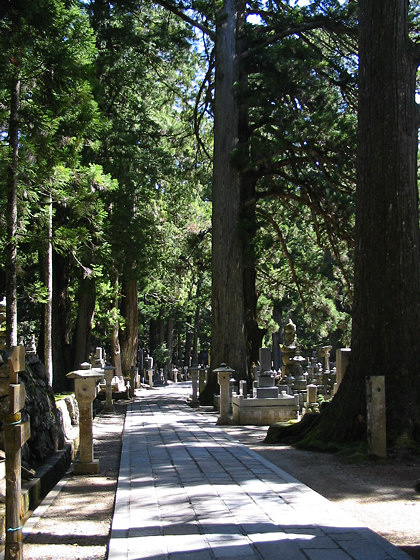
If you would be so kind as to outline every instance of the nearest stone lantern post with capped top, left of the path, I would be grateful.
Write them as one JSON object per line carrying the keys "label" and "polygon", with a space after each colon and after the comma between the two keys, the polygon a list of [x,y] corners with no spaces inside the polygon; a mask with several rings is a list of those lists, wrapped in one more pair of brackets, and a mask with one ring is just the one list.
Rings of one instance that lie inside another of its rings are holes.
{"label": "nearest stone lantern post with capped top, left of the path", "polygon": [[74,474],[97,474],[99,461],[93,455],[93,400],[96,383],[104,374],[90,369],[90,364],[81,364],[82,369],[67,374],[74,379],[76,399],[79,405],[79,461],[74,464]]}

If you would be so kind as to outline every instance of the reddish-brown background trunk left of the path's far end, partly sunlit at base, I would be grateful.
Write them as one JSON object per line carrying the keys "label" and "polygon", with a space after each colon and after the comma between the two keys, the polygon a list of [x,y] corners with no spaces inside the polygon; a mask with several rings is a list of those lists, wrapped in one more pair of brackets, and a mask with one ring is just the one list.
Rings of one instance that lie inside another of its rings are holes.
{"label": "reddish-brown background trunk left of the path's far end, partly sunlit at base", "polygon": [[138,291],[135,278],[123,282],[121,314],[125,320],[124,331],[120,332],[121,365],[124,375],[136,365],[139,338]]}

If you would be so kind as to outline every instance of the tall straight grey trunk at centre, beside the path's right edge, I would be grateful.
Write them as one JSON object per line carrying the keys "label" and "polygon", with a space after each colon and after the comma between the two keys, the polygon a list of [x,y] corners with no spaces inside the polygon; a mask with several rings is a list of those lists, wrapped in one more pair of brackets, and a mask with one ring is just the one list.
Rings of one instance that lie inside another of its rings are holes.
{"label": "tall straight grey trunk at centre, beside the path's right edge", "polygon": [[[225,0],[218,16],[214,101],[212,191],[212,342],[211,369],[225,362],[237,378],[247,377],[244,309],[244,265],[241,239],[241,182],[234,163],[238,148],[239,104],[234,92],[239,79],[236,52],[238,8]],[[201,402],[211,402],[217,390],[209,374]]]}

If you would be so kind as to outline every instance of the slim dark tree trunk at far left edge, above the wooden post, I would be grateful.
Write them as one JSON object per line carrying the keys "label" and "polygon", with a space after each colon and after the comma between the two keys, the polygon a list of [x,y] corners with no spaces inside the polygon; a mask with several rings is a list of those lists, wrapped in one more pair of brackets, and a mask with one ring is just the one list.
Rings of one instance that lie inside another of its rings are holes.
{"label": "slim dark tree trunk at far left edge, above the wooden post", "polygon": [[17,346],[17,177],[19,156],[19,96],[20,80],[12,79],[10,88],[9,147],[7,174],[7,250],[6,250],[6,344]]}

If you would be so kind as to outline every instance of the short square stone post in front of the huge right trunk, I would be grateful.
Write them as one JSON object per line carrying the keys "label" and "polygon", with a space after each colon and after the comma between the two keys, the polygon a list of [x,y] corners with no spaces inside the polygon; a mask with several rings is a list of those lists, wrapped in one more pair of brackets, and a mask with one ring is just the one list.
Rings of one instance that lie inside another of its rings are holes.
{"label": "short square stone post in front of the huge right trunk", "polygon": [[385,376],[366,379],[368,453],[386,457]]}

